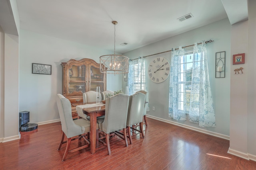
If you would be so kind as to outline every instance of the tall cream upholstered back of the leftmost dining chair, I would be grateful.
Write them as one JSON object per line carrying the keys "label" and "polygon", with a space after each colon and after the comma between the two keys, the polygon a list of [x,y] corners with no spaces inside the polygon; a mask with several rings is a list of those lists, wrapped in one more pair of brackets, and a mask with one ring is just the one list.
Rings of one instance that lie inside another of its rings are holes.
{"label": "tall cream upholstered back of the leftmost dining chair", "polygon": [[71,103],[61,94],[57,94],[57,106],[60,114],[62,131],[67,138],[82,134],[82,129],[76,125],[72,118]]}

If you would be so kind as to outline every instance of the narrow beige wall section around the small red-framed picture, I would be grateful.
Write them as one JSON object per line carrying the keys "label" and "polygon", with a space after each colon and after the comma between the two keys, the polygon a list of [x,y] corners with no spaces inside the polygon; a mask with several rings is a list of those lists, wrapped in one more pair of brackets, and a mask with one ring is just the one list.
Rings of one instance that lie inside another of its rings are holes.
{"label": "narrow beige wall section around the small red-framed picture", "polygon": [[[231,27],[231,54],[245,53],[248,57],[248,21]],[[231,70],[243,67],[243,74],[230,72],[230,149],[247,153],[247,62],[231,65]],[[241,125],[241,126],[238,126]],[[240,143],[236,145],[236,143]],[[230,152],[230,150],[229,150]]]}

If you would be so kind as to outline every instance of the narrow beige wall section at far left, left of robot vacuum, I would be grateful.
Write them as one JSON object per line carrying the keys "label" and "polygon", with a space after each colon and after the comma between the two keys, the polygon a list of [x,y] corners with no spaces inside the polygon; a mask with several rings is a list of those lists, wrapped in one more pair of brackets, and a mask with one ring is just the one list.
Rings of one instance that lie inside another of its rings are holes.
{"label": "narrow beige wall section at far left, left of robot vacuum", "polygon": [[19,37],[4,35],[4,139],[19,139]]}

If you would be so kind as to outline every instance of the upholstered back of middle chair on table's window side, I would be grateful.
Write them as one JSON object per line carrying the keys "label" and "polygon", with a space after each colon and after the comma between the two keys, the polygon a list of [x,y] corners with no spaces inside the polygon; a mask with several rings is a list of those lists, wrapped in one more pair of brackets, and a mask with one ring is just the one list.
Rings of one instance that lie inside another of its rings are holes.
{"label": "upholstered back of middle chair on table's window side", "polygon": [[142,122],[146,94],[135,93],[130,96],[127,126]]}

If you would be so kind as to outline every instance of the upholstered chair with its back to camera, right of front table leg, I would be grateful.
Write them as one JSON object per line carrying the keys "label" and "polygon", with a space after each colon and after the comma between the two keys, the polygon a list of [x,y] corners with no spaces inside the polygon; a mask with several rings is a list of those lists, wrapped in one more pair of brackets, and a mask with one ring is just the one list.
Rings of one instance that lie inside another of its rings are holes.
{"label": "upholstered chair with its back to camera, right of front table leg", "polygon": [[[112,132],[116,132],[120,129],[124,131],[124,136],[116,133],[118,137],[125,141],[126,147],[128,147],[126,136],[126,120],[128,114],[129,96],[124,94],[116,94],[106,99],[105,105],[105,118],[102,123],[99,123],[100,130],[103,131],[106,136],[99,138],[98,140],[108,149],[108,154],[111,154],[109,135]],[[106,139],[106,143],[102,139]]]}

